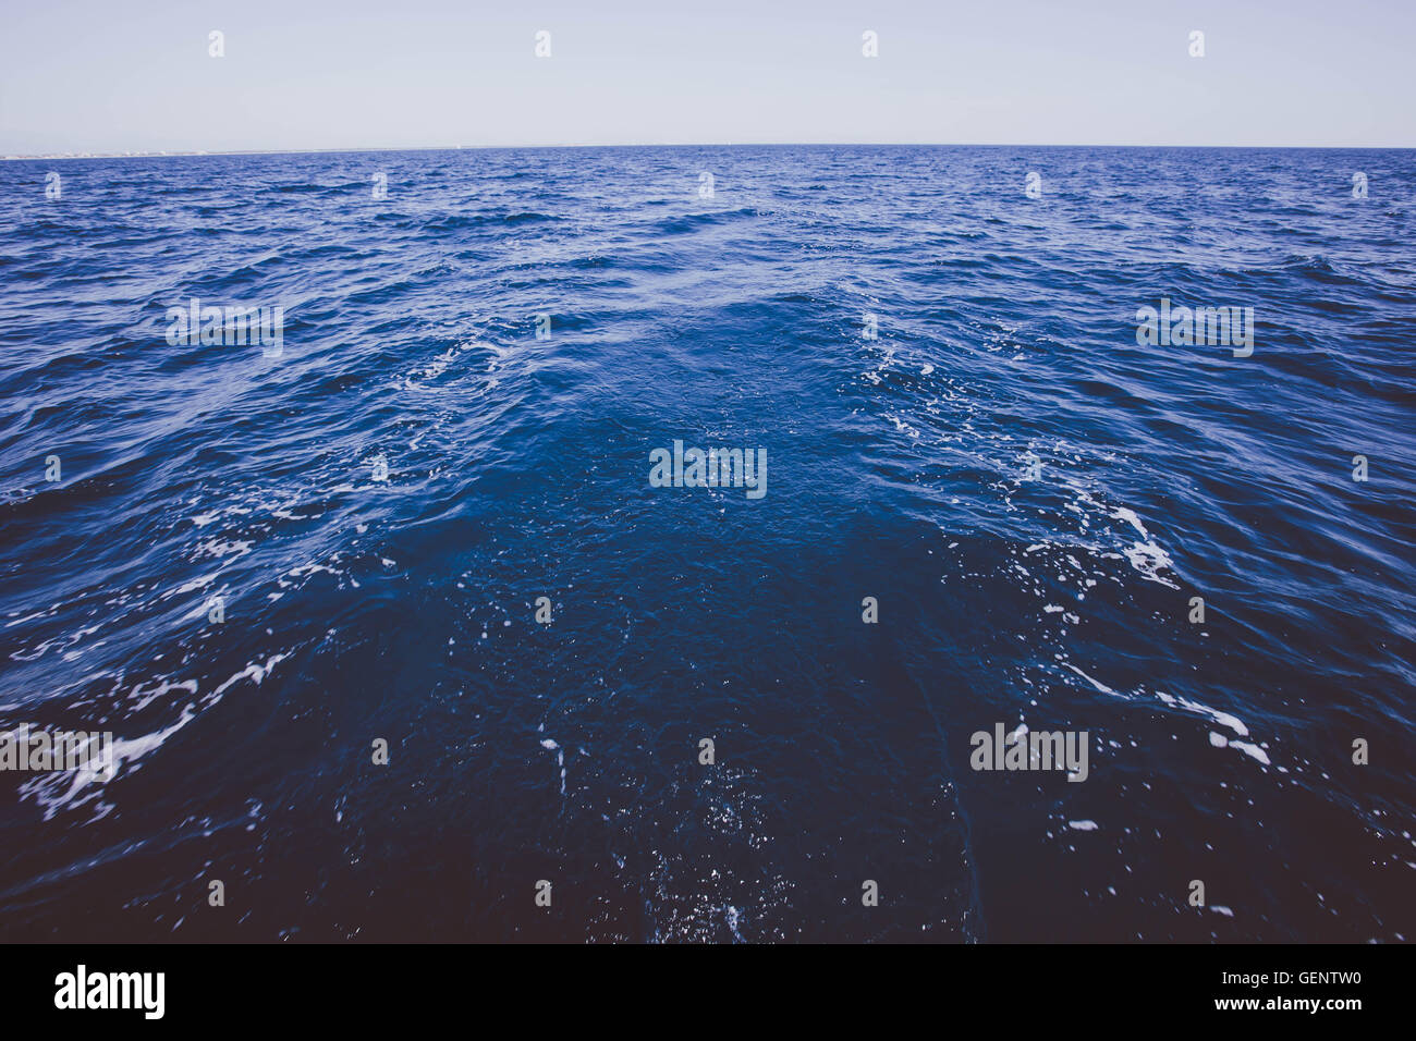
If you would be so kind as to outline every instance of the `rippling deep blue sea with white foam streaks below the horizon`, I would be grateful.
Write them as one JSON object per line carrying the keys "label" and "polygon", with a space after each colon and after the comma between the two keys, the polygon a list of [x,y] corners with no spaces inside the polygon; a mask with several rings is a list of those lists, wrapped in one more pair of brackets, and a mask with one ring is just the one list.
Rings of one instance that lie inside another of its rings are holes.
{"label": "rippling deep blue sea with white foam streaks below the horizon", "polygon": [[1413,154],[3,164],[0,938],[1410,939]]}

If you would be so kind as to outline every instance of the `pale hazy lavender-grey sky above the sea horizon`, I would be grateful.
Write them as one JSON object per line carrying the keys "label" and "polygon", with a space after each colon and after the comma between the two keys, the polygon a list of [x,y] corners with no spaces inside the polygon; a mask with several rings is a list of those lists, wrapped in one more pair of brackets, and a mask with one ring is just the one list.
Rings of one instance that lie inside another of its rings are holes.
{"label": "pale hazy lavender-grey sky above the sea horizon", "polygon": [[[0,154],[1416,144],[1416,0],[11,6]],[[208,55],[208,33],[225,57]],[[551,33],[551,57],[535,34]],[[861,54],[862,33],[879,57]],[[1205,57],[1189,57],[1189,34]]]}

